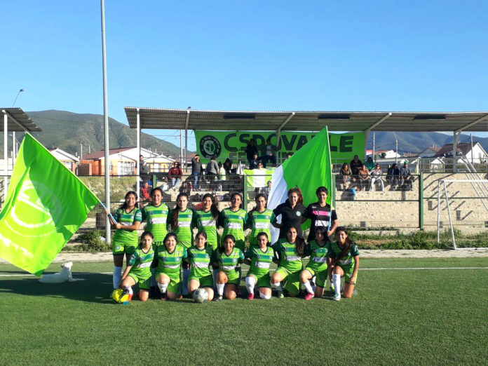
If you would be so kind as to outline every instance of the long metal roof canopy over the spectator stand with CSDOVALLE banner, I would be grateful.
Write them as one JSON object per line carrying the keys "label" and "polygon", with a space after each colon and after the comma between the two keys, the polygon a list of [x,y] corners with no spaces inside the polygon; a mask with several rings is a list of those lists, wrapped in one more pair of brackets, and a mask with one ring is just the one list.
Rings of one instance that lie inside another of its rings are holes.
{"label": "long metal roof canopy over the spectator stand with CSDOVALLE banner", "polygon": [[486,131],[488,111],[202,111],[125,107],[130,128],[168,130]]}

